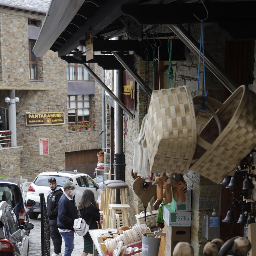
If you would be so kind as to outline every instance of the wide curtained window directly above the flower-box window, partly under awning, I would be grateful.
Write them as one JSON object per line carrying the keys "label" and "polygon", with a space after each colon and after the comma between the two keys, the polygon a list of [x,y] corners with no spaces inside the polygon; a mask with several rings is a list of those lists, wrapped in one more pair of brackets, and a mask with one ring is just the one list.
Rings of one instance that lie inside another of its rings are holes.
{"label": "wide curtained window directly above the flower-box window, partly under awning", "polygon": [[[77,47],[80,51],[84,52],[85,47]],[[68,54],[73,56],[73,54]],[[81,64],[67,64],[67,80],[68,81],[90,81],[90,76],[87,70]]]}

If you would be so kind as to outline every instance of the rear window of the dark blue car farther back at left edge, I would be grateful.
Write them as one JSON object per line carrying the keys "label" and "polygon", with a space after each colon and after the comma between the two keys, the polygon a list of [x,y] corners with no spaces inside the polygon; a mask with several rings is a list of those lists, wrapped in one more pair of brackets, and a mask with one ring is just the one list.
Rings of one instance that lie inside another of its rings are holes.
{"label": "rear window of the dark blue car farther back at left edge", "polygon": [[6,201],[13,208],[20,202],[18,187],[0,184],[0,202]]}

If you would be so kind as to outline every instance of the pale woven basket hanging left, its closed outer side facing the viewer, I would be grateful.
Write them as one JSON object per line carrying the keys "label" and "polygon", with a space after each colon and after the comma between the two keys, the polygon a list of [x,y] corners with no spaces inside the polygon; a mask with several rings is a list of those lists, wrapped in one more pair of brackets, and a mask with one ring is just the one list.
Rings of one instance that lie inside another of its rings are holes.
{"label": "pale woven basket hanging left, its closed outer side facing the viewer", "polygon": [[152,173],[187,171],[196,147],[195,111],[189,88],[152,92],[145,138]]}

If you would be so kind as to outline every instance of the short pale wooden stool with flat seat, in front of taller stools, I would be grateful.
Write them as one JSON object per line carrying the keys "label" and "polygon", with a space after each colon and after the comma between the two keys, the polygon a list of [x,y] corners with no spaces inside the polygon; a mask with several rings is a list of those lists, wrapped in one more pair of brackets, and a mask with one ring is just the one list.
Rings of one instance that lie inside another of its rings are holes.
{"label": "short pale wooden stool with flat seat, in front of taller stools", "polygon": [[111,224],[109,228],[119,228],[120,222],[122,226],[129,226],[128,219],[128,204],[110,204],[109,209],[111,211]]}

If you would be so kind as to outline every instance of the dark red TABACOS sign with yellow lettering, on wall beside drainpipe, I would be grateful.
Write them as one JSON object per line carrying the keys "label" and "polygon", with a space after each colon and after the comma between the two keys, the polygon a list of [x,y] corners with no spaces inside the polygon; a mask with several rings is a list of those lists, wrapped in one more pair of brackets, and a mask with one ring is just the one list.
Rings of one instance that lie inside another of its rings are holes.
{"label": "dark red TABACOS sign with yellow lettering, on wall beside drainpipe", "polygon": [[123,101],[127,109],[135,109],[135,80],[127,70],[123,71]]}

